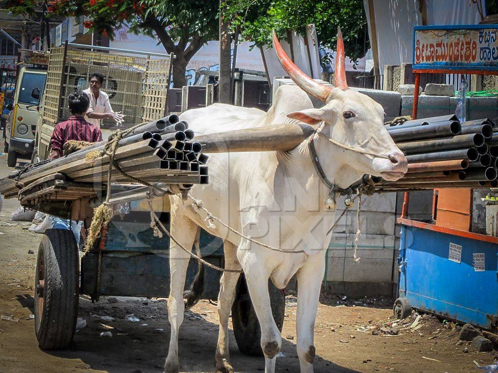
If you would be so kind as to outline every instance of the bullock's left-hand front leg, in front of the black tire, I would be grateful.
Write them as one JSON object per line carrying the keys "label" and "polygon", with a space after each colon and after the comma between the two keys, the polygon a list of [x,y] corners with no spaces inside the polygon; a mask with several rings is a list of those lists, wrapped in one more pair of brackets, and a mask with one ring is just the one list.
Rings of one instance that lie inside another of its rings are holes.
{"label": "bullock's left-hand front leg, in front of the black tire", "polygon": [[244,266],[243,269],[246,275],[250,299],[261,327],[261,349],[264,354],[264,372],[274,373],[276,356],[282,346],[282,336],[271,314],[270,295],[268,293],[269,273],[265,270],[262,261],[254,260],[248,262],[250,264],[247,268]]}

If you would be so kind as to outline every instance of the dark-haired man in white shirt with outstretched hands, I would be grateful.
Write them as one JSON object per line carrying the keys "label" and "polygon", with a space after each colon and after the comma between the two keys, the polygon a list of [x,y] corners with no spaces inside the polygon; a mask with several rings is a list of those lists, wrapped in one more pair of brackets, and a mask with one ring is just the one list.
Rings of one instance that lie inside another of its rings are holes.
{"label": "dark-haired man in white shirt with outstretched hands", "polygon": [[124,114],[114,112],[109,102],[109,95],[101,91],[104,84],[104,76],[101,73],[90,75],[90,88],[83,91],[90,99],[90,107],[85,115],[85,119],[100,128],[102,119],[113,119],[117,124],[124,122]]}

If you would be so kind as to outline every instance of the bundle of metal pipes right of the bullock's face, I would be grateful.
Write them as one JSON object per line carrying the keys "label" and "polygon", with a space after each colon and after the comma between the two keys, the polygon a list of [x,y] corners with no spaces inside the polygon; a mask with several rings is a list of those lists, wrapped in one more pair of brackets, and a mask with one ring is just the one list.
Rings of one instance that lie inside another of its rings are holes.
{"label": "bundle of metal pipes right of the bullock's face", "polygon": [[461,123],[443,115],[386,129],[405,154],[408,172],[395,182],[364,178],[376,190],[498,185],[498,127],[490,119]]}

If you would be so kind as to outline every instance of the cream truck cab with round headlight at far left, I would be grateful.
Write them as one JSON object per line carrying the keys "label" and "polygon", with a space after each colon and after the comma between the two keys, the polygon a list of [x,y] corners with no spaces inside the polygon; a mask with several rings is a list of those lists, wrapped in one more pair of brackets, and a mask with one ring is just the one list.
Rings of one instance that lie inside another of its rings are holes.
{"label": "cream truck cab with round headlight at far left", "polygon": [[43,68],[22,66],[19,69],[13,103],[7,107],[11,110],[5,131],[9,167],[15,167],[18,158],[31,159],[46,77],[47,70]]}

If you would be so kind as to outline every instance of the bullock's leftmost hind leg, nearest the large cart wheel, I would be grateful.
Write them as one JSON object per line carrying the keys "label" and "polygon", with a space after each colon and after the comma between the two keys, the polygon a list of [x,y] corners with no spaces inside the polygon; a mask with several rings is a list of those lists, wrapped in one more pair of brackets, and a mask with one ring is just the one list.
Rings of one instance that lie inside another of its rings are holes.
{"label": "bullock's leftmost hind leg, nearest the large cart wheel", "polygon": [[[192,250],[197,225],[185,216],[171,219],[171,234],[186,249]],[[183,322],[183,288],[190,255],[180,249],[173,241],[169,245],[169,268],[171,272],[168,297],[168,320],[171,324],[168,357],[164,366],[165,373],[178,373],[178,331]]]}

